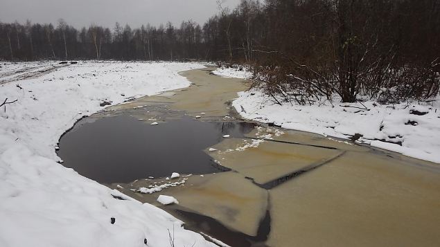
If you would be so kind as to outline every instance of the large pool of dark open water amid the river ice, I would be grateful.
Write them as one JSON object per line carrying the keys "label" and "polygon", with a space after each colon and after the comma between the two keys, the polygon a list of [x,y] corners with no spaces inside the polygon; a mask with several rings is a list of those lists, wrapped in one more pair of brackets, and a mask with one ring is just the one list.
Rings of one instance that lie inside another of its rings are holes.
{"label": "large pool of dark open water amid the river ice", "polygon": [[222,171],[203,149],[222,136],[242,137],[249,122],[202,122],[192,118],[149,125],[128,115],[85,118],[60,138],[63,165],[100,183],[128,183],[148,176]]}

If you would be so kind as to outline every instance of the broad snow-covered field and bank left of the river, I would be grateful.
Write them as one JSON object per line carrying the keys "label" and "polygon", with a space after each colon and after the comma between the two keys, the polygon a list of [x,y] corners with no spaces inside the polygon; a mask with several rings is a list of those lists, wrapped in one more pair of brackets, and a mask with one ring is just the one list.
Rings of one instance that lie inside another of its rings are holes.
{"label": "broad snow-covered field and bank left of the river", "polygon": [[188,86],[177,72],[201,64],[0,65],[0,100],[17,100],[0,111],[0,246],[163,247],[168,230],[175,246],[213,246],[163,210],[63,167],[55,154],[64,131],[101,103]]}

